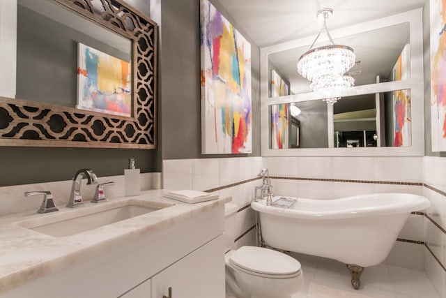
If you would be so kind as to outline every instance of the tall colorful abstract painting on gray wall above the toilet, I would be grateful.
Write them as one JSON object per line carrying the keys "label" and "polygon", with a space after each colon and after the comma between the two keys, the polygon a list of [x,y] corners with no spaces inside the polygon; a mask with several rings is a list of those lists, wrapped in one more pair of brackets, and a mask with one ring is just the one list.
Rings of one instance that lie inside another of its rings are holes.
{"label": "tall colorful abstract painting on gray wall above the toilet", "polygon": [[201,152],[251,153],[251,45],[209,1],[200,8]]}

